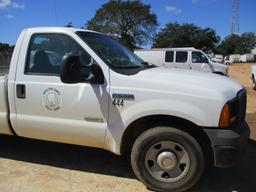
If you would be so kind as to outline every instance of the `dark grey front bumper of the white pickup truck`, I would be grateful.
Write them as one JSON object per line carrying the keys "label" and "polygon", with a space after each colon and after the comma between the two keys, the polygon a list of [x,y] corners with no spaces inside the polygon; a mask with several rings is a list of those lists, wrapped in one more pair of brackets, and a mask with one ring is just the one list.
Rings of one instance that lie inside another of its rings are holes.
{"label": "dark grey front bumper of the white pickup truck", "polygon": [[246,122],[229,129],[204,131],[211,141],[215,167],[231,167],[242,159],[250,137],[250,128]]}

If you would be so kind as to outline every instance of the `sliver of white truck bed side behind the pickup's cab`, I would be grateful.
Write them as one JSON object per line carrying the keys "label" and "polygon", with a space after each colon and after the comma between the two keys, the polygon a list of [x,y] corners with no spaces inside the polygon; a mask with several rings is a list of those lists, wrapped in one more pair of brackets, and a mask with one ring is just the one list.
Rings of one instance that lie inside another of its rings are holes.
{"label": "sliver of white truck bed side behind the pickup's cab", "polygon": [[7,98],[8,76],[0,76],[0,134],[12,134],[9,127],[8,98]]}

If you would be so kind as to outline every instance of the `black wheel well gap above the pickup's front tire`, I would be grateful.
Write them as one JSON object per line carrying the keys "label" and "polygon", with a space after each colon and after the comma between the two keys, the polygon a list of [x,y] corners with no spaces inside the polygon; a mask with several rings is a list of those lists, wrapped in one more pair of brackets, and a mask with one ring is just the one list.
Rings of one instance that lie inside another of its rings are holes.
{"label": "black wheel well gap above the pickup's front tire", "polygon": [[125,156],[130,155],[132,146],[137,137],[144,131],[158,126],[175,127],[193,136],[202,147],[207,165],[213,165],[214,155],[211,142],[202,128],[186,119],[168,115],[147,116],[131,123],[122,137],[121,154]]}

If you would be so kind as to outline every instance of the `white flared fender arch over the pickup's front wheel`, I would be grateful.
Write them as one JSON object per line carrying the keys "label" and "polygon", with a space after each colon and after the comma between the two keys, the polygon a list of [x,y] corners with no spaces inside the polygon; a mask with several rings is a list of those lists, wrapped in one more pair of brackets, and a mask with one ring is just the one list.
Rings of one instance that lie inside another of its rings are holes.
{"label": "white flared fender arch over the pickup's front wheel", "polygon": [[192,104],[189,101],[170,99],[147,100],[135,103],[123,110],[114,109],[111,113],[114,114],[115,118],[109,121],[105,148],[120,154],[121,140],[126,128],[134,121],[152,115],[175,116],[193,122],[198,126],[217,126],[220,111],[200,108],[200,106],[206,106],[205,104],[202,101],[199,105],[198,103]]}

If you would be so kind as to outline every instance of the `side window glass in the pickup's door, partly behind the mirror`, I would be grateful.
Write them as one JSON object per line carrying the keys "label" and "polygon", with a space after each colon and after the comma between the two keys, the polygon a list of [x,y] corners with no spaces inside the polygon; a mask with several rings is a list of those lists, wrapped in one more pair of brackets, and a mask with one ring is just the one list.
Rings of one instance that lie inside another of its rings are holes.
{"label": "side window glass in the pickup's door, partly behind the mirror", "polygon": [[63,34],[36,34],[33,35],[27,53],[25,74],[57,75],[60,74],[60,65],[65,54],[79,55],[84,77],[88,77],[91,57],[72,38]]}

